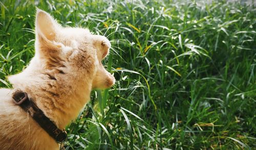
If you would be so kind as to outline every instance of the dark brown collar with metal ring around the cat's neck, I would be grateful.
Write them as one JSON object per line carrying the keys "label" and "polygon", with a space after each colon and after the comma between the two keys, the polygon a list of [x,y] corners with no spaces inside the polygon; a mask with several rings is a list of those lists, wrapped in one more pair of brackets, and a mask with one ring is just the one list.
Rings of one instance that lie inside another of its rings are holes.
{"label": "dark brown collar with metal ring around the cat's neck", "polygon": [[21,90],[16,90],[13,92],[12,98],[15,104],[19,105],[25,112],[29,113],[29,115],[58,143],[67,140],[67,132],[65,130],[59,130],[59,128],[45,116],[35,103],[29,99],[27,93]]}

